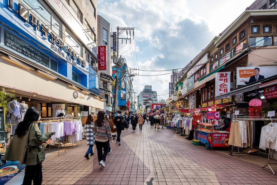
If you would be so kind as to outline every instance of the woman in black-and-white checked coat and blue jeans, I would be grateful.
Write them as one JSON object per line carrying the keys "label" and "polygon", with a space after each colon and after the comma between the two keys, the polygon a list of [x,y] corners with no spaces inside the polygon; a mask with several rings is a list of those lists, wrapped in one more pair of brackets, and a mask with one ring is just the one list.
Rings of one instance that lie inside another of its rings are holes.
{"label": "woman in black-and-white checked coat and blue jeans", "polygon": [[86,145],[89,146],[85,158],[90,159],[88,155],[92,156],[94,153],[92,151],[93,145],[95,145],[95,137],[94,137],[94,117],[93,114],[87,115],[86,123],[85,123],[85,136],[86,136]]}

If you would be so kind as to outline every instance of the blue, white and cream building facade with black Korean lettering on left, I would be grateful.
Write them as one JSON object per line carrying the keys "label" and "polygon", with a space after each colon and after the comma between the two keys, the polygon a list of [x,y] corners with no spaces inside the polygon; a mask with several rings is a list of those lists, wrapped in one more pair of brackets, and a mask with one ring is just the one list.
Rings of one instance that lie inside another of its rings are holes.
{"label": "blue, white and cream building facade with black Korean lettering on left", "polygon": [[42,117],[104,110],[96,15],[96,0],[1,1],[0,86]]}

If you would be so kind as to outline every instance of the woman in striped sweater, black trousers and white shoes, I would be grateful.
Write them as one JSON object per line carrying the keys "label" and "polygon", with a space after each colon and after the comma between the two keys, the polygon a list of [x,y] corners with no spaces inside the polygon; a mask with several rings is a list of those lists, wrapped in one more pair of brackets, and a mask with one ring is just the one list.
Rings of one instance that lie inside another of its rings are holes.
{"label": "woman in striped sweater, black trousers and white shoes", "polygon": [[[105,168],[106,156],[109,152],[108,140],[113,142],[110,131],[110,124],[105,119],[106,112],[100,110],[97,113],[97,120],[94,122],[95,144],[97,149],[97,156],[101,168]],[[104,150],[104,153],[103,153]]]}

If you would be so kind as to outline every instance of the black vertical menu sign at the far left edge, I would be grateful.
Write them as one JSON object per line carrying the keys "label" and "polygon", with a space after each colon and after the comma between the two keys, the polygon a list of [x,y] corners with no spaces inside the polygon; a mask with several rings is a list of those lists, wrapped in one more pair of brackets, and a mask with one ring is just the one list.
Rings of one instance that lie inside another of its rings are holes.
{"label": "black vertical menu sign at the far left edge", "polygon": [[0,165],[6,163],[3,157],[6,153],[5,123],[4,123],[4,107],[0,107]]}

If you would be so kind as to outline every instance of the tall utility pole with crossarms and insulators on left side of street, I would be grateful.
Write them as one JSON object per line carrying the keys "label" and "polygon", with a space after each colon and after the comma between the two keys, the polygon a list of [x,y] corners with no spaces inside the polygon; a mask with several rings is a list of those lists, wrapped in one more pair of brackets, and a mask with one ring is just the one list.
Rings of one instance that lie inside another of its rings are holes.
{"label": "tall utility pole with crossarms and insulators on left side of street", "polygon": [[[116,56],[118,58],[118,42],[119,42],[119,39],[122,39],[122,42],[123,42],[123,39],[126,40],[126,43],[127,43],[127,40],[130,40],[130,43],[131,43],[131,31],[133,31],[133,39],[134,39],[134,28],[131,27],[131,28],[120,28],[120,27],[117,27],[117,38],[116,38]],[[119,38],[119,35],[121,35],[123,33],[123,31],[126,31],[126,34],[127,34],[127,38]],[[128,31],[130,33],[130,38],[128,38]],[[118,62],[121,62],[122,59],[121,57],[118,58]],[[118,79],[118,67],[119,67],[119,64],[116,63],[115,64],[116,66],[116,69],[115,69],[115,92],[114,92],[114,95],[115,95],[115,111],[114,112],[117,112],[118,111],[118,82],[119,82],[119,79]]]}

